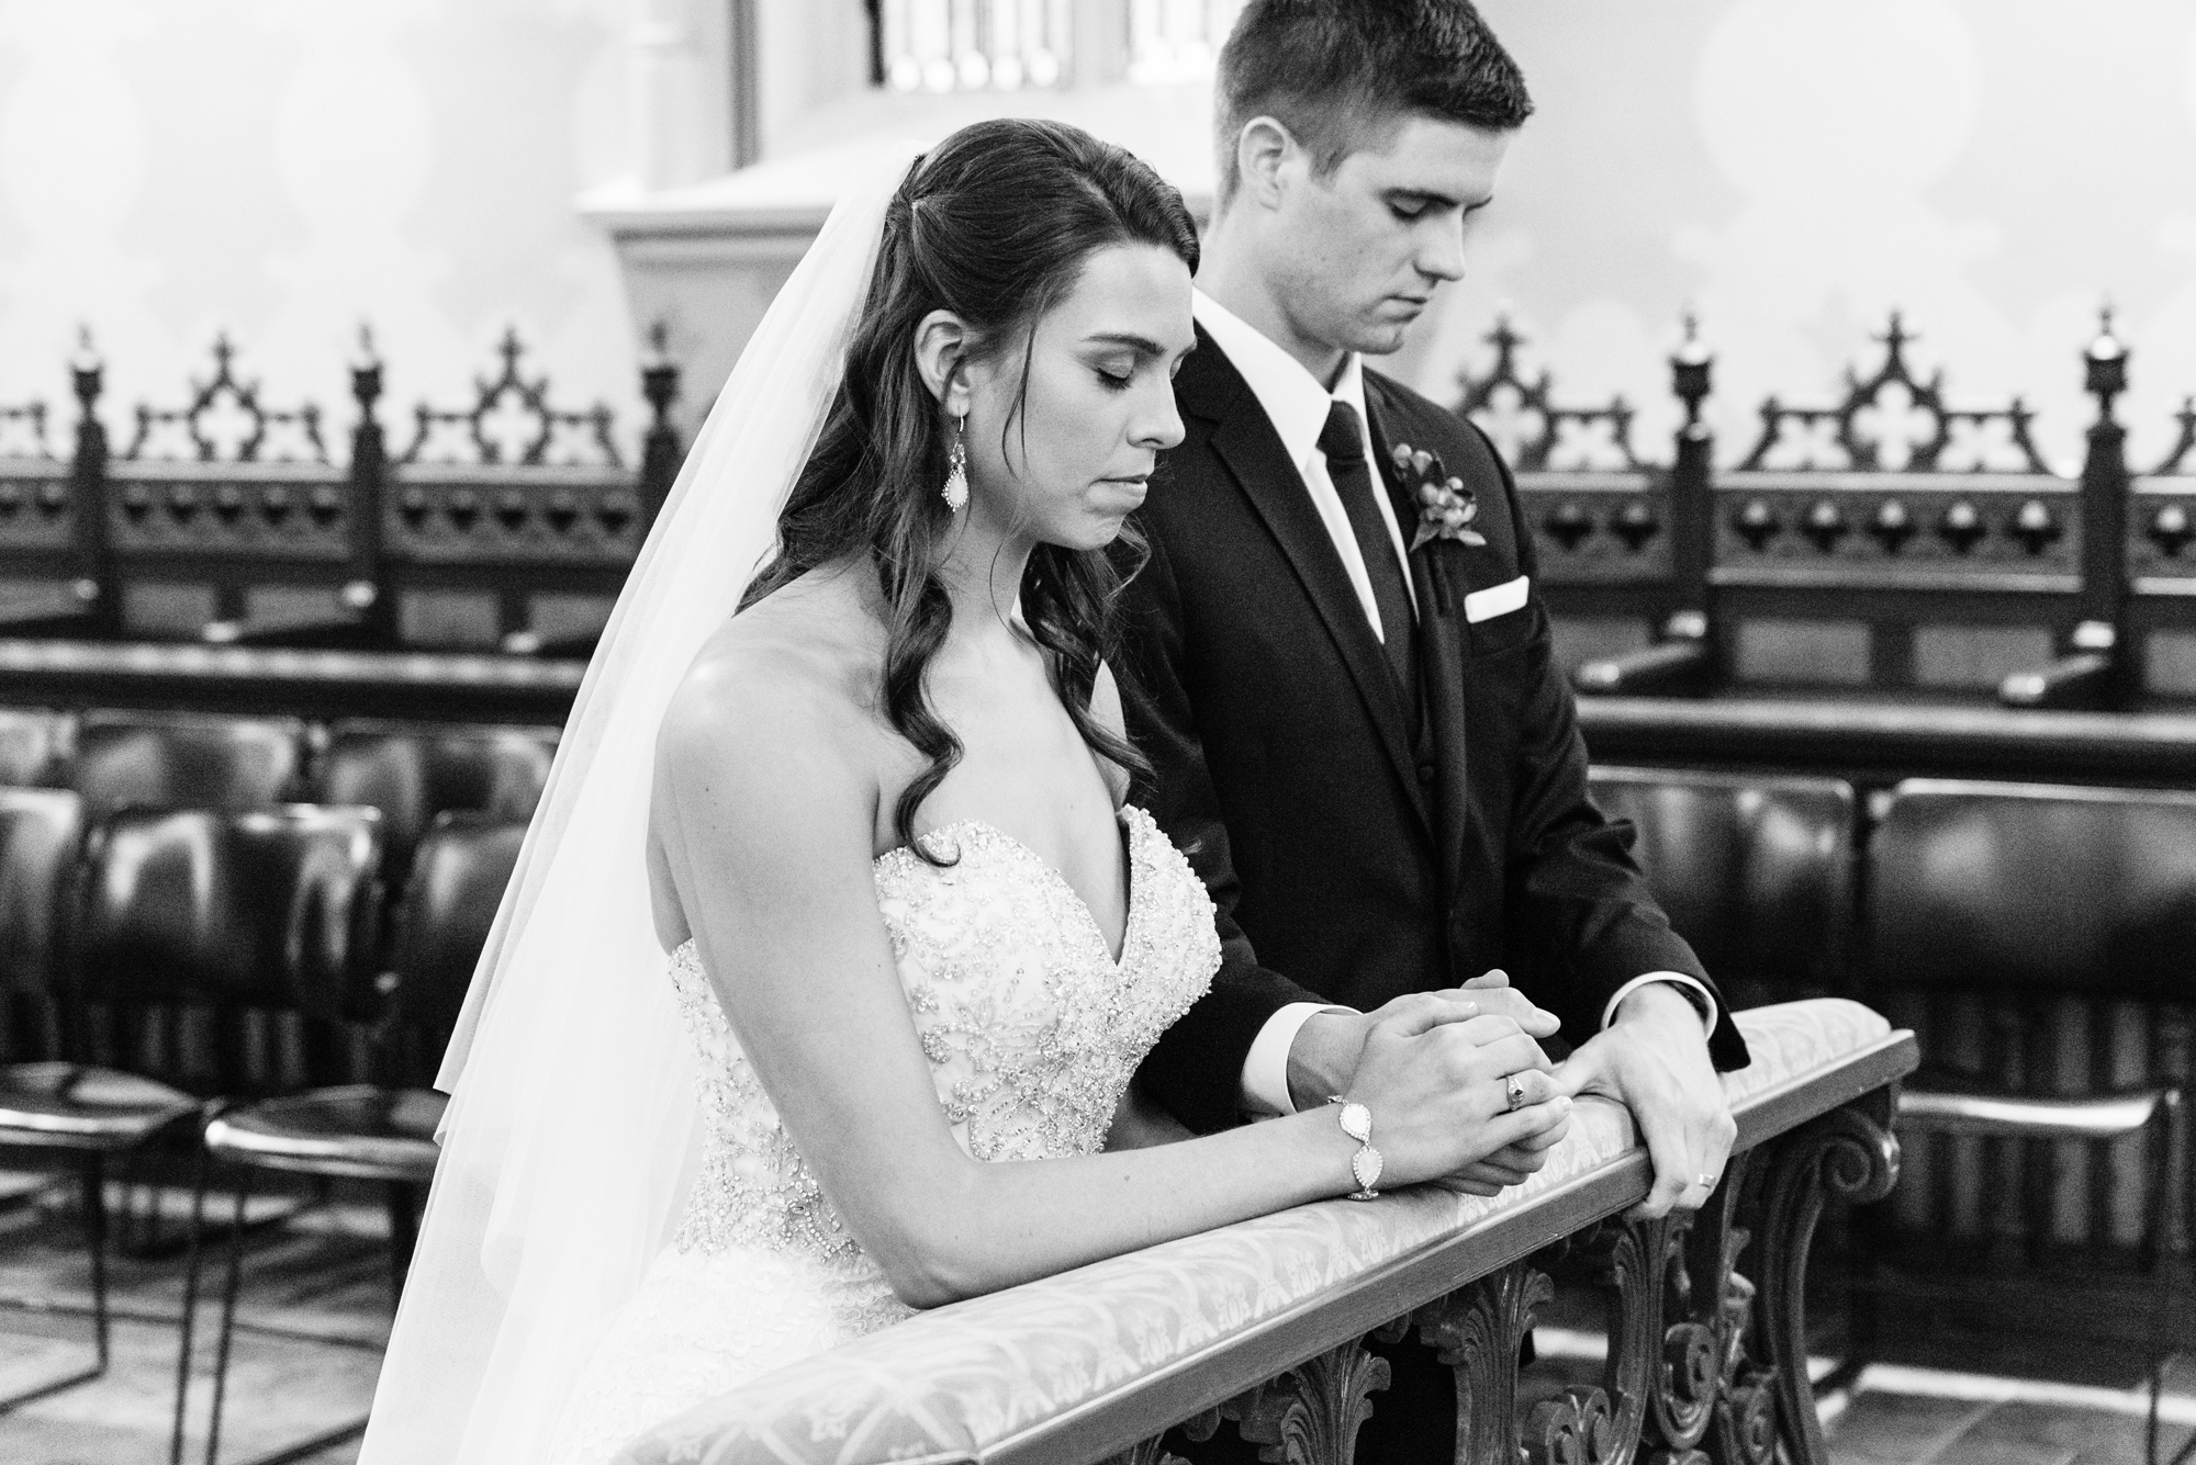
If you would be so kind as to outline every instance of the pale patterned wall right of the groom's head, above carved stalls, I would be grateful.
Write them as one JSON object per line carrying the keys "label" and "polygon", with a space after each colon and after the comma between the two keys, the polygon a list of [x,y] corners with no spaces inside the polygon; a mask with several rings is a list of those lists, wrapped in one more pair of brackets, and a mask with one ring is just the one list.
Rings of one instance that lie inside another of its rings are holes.
{"label": "pale patterned wall right of the groom's head, above carved stalls", "polygon": [[[1478,351],[1498,303],[1570,397],[1671,421],[1687,305],[1717,425],[1829,399],[1904,307],[1954,397],[2018,390],[2080,450],[2082,344],[2119,305],[2139,463],[2196,390],[2196,4],[2187,0],[1484,0],[1539,114],[1474,276],[1414,375]],[[1871,349],[1873,351],[1873,349]],[[1873,355],[1864,364],[1873,364]],[[1667,439],[1658,441],[1667,452]]]}

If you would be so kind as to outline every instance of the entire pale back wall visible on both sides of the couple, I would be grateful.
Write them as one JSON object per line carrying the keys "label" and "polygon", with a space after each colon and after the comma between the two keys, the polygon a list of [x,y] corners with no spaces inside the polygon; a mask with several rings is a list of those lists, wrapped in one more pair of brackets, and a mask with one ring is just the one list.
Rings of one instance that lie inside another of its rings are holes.
{"label": "entire pale back wall visible on both sides of the couple", "polygon": [[[824,22],[859,7],[762,9],[769,151],[797,154],[806,103],[859,39]],[[1829,395],[1900,305],[1954,397],[2027,393],[2064,456],[2086,423],[2075,353],[2110,294],[2135,347],[2137,456],[2163,450],[2196,390],[2187,0],[1487,13],[1539,116],[1474,276],[1401,362],[1421,386],[1445,395],[1506,305],[1568,397],[1623,390],[1651,441],[1693,305],[1728,456],[1766,393]],[[61,395],[79,320],[114,406],[169,401],[226,327],[272,399],[312,395],[347,421],[360,318],[393,408],[459,397],[516,322],[560,397],[604,397],[630,428],[635,322],[573,200],[635,167],[632,15],[632,0],[0,0],[0,401]]]}

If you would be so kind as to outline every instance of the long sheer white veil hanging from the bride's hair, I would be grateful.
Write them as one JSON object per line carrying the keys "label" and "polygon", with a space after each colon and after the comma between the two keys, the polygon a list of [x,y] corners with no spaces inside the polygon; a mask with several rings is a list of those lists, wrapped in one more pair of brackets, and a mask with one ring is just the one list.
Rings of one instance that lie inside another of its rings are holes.
{"label": "long sheer white veil hanging from the bride's hair", "polygon": [[861,178],[777,292],[580,684],[437,1079],[441,1162],[362,1465],[538,1461],[676,1226],[701,1129],[648,899],[657,726],[773,550],[911,158]]}

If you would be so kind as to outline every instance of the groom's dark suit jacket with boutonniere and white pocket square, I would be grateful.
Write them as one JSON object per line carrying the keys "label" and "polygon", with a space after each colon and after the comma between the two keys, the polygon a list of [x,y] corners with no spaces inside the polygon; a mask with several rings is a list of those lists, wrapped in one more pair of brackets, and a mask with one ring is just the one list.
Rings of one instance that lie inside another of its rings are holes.
{"label": "groom's dark suit jacket with boutonniere and white pocket square", "polygon": [[[1212,991],[1140,1077],[1195,1129],[1236,1121],[1243,1059],[1280,1007],[1379,1007],[1504,967],[1581,1042],[1645,972],[1708,980],[1586,796],[1586,743],[1537,594],[1467,621],[1465,597],[1535,575],[1509,469],[1478,428],[1366,373],[1377,472],[1403,537],[1394,443],[1441,454],[1484,546],[1410,555],[1419,728],[1304,480],[1245,379],[1199,329],[1175,382],[1186,439],[1140,509],[1122,693],[1153,761],[1142,792],[1219,908]],[[1711,985],[1713,991],[1713,985]],[[1717,1068],[1746,1044],[1717,998]]]}

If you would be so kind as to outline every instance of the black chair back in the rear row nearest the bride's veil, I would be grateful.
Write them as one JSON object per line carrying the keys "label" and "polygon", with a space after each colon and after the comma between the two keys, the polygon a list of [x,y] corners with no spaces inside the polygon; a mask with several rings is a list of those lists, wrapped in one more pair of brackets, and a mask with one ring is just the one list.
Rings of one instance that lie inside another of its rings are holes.
{"label": "black chair back in the rear row nearest the bride's veil", "polygon": [[382,811],[393,877],[437,814],[479,811],[527,820],[549,781],[556,732],[549,728],[437,728],[393,722],[343,722],[321,757],[321,803]]}

